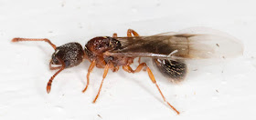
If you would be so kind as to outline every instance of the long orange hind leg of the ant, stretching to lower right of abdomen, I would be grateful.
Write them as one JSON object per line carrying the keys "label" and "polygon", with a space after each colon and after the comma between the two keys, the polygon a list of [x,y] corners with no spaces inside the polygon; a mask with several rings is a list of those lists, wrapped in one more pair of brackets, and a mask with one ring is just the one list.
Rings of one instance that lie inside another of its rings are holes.
{"label": "long orange hind leg of the ant, stretching to lower right of abdomen", "polygon": [[174,111],[176,111],[176,114],[179,115],[179,112],[176,110],[176,108],[171,105],[168,101],[166,101],[166,98],[165,98],[165,95],[163,95],[161,89],[159,88],[159,86],[156,84],[156,81],[155,81],[155,76],[153,75],[153,73],[151,72],[150,68],[145,64],[145,63],[142,63],[140,65],[137,66],[137,68],[135,70],[132,69],[132,67],[130,65],[123,65],[123,70],[128,72],[128,73],[138,73],[142,70],[143,67],[146,67],[146,71],[147,71],[147,74],[149,75],[151,81],[155,84],[155,86],[157,87],[160,95],[162,95],[164,101],[166,102],[167,105],[169,105]]}

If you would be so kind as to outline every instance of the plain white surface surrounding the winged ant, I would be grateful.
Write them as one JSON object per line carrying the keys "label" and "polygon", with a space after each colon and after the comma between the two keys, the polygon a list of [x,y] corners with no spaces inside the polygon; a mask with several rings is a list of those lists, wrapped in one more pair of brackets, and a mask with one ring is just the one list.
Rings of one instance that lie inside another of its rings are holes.
{"label": "plain white surface surrounding the winged ant", "polygon": [[[0,119],[256,119],[255,5],[254,0],[0,0]],[[10,42],[30,37],[84,46],[94,36],[124,36],[128,28],[155,35],[193,26],[239,38],[244,55],[226,64],[198,67],[179,85],[156,75],[180,115],[163,103],[145,72],[110,72],[92,104],[102,69],[93,70],[91,85],[82,94],[88,61],[61,72],[48,95],[48,79],[56,72],[48,69],[52,47]]]}

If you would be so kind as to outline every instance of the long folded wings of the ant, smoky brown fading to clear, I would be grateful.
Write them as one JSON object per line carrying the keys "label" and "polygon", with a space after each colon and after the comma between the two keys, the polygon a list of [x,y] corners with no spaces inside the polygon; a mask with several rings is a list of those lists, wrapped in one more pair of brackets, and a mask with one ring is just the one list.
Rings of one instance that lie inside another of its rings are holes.
{"label": "long folded wings of the ant, smoky brown fading to clear", "polygon": [[182,31],[153,36],[118,37],[122,48],[108,54],[172,59],[218,59],[242,55],[243,45],[236,38],[218,32],[211,33]]}

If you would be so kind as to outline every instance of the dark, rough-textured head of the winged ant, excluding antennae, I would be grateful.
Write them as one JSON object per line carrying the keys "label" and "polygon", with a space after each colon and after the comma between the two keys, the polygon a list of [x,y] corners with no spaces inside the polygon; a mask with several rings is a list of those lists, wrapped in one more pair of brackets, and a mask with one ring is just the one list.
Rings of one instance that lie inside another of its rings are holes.
{"label": "dark, rough-textured head of the winged ant, excluding antennae", "polygon": [[51,55],[52,65],[65,65],[66,68],[80,65],[84,57],[84,51],[79,43],[60,45]]}

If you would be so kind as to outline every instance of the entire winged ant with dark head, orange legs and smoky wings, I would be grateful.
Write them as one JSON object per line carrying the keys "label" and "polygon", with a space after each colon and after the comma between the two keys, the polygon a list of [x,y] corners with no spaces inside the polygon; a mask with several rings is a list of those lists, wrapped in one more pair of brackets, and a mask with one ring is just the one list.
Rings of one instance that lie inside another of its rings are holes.
{"label": "entire winged ant with dark head, orange legs and smoky wings", "polygon": [[[193,34],[193,32],[192,34],[189,34],[189,32],[187,34],[169,32],[160,35],[139,36],[135,31],[129,29],[127,37],[117,37],[117,34],[113,34],[112,37],[94,37],[85,45],[84,49],[78,43],[68,43],[57,47],[48,39],[14,38],[12,40],[12,42],[19,41],[45,41],[55,49],[49,63],[49,68],[58,71],[48,80],[48,93],[56,75],[65,68],[80,65],[83,59],[88,59],[91,65],[87,73],[87,85],[82,92],[87,90],[90,84],[89,76],[95,66],[104,68],[101,86],[109,69],[116,72],[122,66],[123,70],[128,73],[138,73],[144,70],[153,84],[155,84],[165,103],[176,111],[176,114],[179,114],[179,112],[166,101],[151,69],[145,63],[140,63],[140,57],[152,58],[155,66],[163,75],[174,82],[179,82],[187,75],[186,60],[192,58],[232,58],[243,53],[242,45],[233,37],[208,35],[206,33],[200,35]],[[133,70],[130,65],[133,64],[135,57],[139,57],[140,64]],[[53,67],[52,65],[59,66]],[[101,86],[93,103],[96,102],[101,93]]]}

